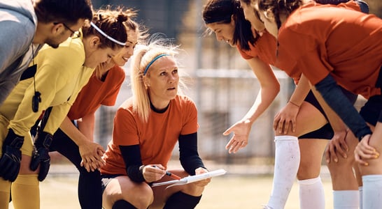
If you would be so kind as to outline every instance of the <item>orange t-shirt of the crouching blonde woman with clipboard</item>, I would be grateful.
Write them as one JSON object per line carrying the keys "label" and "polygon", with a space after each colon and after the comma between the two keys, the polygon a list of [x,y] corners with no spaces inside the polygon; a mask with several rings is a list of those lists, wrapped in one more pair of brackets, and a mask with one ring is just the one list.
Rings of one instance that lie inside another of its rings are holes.
{"label": "orange t-shirt of the crouching blonde woman with clipboard", "polygon": [[143,123],[132,110],[132,99],[125,101],[115,114],[113,140],[108,144],[101,168],[103,174],[127,175],[119,146],[139,145],[143,164],[167,162],[179,135],[197,132],[197,107],[186,97],[177,95],[164,113],[150,111],[148,123]]}

